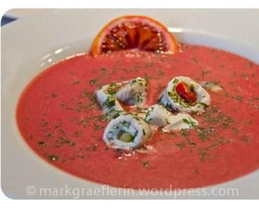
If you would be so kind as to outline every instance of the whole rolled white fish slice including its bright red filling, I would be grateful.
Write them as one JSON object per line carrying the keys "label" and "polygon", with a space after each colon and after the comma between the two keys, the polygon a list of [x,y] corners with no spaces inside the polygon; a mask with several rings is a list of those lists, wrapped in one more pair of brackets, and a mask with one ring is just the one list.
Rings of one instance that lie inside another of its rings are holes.
{"label": "whole rolled white fish slice including its bright red filling", "polygon": [[202,85],[186,76],[178,76],[168,83],[160,102],[172,111],[201,113],[209,106],[211,98]]}

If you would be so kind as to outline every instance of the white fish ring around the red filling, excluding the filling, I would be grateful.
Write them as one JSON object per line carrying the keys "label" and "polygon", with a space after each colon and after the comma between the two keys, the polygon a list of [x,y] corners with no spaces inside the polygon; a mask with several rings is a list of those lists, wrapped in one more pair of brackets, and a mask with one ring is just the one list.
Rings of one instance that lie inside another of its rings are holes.
{"label": "white fish ring around the red filling, excluding the filling", "polygon": [[[196,94],[195,104],[188,104],[184,99],[182,99],[176,92],[176,85],[183,81],[187,85],[191,85]],[[211,98],[209,93],[202,88],[202,85],[193,81],[193,79],[186,76],[177,76],[169,81],[167,89],[162,93],[160,102],[164,106],[170,107],[173,111],[180,111],[186,113],[201,113],[204,109],[211,103]]]}

